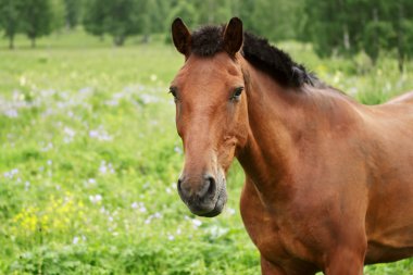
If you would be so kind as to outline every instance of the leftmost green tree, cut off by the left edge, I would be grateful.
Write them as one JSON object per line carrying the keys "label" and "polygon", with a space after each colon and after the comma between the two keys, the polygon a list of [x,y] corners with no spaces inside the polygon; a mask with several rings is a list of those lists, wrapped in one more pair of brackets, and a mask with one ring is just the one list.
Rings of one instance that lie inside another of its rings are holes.
{"label": "leftmost green tree, cut off by the left edge", "polygon": [[9,48],[14,48],[14,36],[21,28],[21,0],[0,0],[0,26],[9,38]]}

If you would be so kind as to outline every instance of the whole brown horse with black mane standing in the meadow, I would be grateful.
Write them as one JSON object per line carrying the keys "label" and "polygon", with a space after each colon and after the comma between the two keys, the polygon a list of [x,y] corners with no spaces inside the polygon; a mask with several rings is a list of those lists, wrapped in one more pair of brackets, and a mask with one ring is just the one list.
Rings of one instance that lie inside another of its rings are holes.
{"label": "whole brown horse with black mane standing in the meadow", "polygon": [[236,17],[195,33],[177,18],[172,33],[186,60],[171,86],[177,188],[192,213],[221,213],[237,158],[263,274],[354,275],[413,254],[412,92],[362,105]]}

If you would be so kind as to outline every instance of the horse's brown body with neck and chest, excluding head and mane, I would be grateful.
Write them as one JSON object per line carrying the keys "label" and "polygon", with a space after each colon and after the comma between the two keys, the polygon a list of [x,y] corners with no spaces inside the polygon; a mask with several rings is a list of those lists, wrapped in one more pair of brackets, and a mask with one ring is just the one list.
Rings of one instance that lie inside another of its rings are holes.
{"label": "horse's brown body with neck and chest, excluding head and mane", "polygon": [[[248,98],[240,204],[264,260],[313,274],[330,261],[360,270],[364,253],[366,263],[411,255],[413,103],[365,107],[334,89],[286,93],[260,72],[250,78],[254,93],[268,95]],[[262,121],[273,123],[262,129]]]}

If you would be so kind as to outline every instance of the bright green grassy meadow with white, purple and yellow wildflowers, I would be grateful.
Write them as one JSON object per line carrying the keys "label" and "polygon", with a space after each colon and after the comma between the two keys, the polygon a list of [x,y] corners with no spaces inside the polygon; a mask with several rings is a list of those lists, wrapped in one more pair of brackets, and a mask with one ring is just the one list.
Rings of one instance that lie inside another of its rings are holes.
{"label": "bright green grassy meadow with white, purple and yellow wildflowers", "polygon": [[[228,204],[193,216],[175,182],[183,151],[168,82],[183,63],[158,37],[111,47],[82,32],[29,49],[0,40],[0,274],[259,274],[238,209],[235,163]],[[280,45],[326,83],[364,103],[413,89],[413,64],[376,67],[317,59]],[[350,263],[349,263],[350,264]],[[413,260],[365,268],[413,274]]]}

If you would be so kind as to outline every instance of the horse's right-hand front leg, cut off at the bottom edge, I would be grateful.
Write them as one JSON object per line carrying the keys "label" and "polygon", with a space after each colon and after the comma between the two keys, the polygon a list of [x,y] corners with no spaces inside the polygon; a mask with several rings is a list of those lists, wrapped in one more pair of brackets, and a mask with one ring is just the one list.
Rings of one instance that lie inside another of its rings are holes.
{"label": "horse's right-hand front leg, cut off at the bottom edge", "polygon": [[363,275],[365,249],[363,252],[349,248],[338,248],[329,258],[325,275]]}

